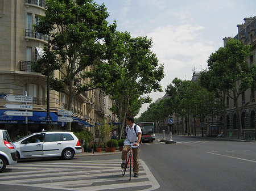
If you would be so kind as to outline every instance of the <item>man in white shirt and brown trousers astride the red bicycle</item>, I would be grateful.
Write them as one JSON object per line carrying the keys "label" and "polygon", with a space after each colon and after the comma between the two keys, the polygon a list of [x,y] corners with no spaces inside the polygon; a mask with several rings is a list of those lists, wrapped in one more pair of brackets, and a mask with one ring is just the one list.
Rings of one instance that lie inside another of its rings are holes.
{"label": "man in white shirt and brown trousers astride the red bicycle", "polygon": [[125,120],[127,126],[125,128],[127,139],[125,139],[122,151],[122,167],[125,166],[126,154],[130,148],[130,142],[133,143],[133,173],[134,177],[139,177],[139,142],[141,142],[141,127],[134,124],[134,117],[127,116]]}

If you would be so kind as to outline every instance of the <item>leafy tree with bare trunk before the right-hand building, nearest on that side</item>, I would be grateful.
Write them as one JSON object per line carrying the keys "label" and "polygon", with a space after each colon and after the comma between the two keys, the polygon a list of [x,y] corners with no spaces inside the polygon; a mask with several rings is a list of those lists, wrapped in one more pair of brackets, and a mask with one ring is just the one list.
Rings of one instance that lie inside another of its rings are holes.
{"label": "leafy tree with bare trunk before the right-hand building, nearest on that side", "polygon": [[[225,48],[221,47],[212,53],[208,60],[209,76],[207,78],[212,81],[210,86],[223,92],[223,101],[225,101],[225,93],[227,92],[236,104],[238,137],[242,136],[238,97],[253,86],[255,76],[255,66],[249,66],[246,62],[246,57],[250,55],[250,52],[251,46],[246,46],[240,41],[232,39]],[[224,116],[224,120],[225,118]]]}

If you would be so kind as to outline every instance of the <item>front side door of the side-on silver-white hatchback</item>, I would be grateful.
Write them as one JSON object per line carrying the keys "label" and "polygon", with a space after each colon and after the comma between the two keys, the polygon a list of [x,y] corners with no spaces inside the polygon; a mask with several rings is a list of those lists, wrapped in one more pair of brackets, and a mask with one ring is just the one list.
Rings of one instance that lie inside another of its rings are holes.
{"label": "front side door of the side-on silver-white hatchback", "polygon": [[44,133],[36,134],[24,139],[19,145],[21,155],[33,156],[43,154]]}

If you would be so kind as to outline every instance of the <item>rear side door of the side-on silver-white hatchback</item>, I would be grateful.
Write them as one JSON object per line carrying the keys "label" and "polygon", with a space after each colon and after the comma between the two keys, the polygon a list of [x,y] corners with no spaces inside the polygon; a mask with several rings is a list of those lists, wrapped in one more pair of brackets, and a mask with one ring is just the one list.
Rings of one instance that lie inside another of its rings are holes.
{"label": "rear side door of the side-on silver-white hatchback", "polygon": [[44,139],[43,154],[46,156],[61,156],[61,141],[60,133],[47,133]]}

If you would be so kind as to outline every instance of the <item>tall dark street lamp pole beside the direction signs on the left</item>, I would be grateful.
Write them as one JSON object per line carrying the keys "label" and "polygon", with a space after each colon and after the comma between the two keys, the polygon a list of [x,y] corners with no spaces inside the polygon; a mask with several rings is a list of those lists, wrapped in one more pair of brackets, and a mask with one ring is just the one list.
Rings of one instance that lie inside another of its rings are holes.
{"label": "tall dark street lamp pole beside the direction signs on the left", "polygon": [[[46,122],[47,122],[47,130],[50,129],[49,122],[52,121],[52,117],[49,115],[49,54],[50,54],[50,44],[48,41],[48,59],[47,59],[47,114],[46,114]],[[52,47],[53,50],[57,50],[57,46],[54,45]]]}

